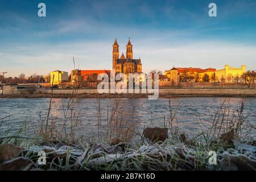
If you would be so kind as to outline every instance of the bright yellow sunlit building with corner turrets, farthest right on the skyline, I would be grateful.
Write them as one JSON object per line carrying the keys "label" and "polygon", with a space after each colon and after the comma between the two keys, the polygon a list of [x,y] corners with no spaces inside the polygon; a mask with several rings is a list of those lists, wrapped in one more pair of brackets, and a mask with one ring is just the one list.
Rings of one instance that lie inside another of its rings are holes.
{"label": "bright yellow sunlit building with corner turrets, farthest right on the skyline", "polygon": [[233,68],[225,65],[224,69],[216,71],[216,80],[218,82],[236,82],[246,72],[245,69],[245,65],[242,65],[241,68]]}

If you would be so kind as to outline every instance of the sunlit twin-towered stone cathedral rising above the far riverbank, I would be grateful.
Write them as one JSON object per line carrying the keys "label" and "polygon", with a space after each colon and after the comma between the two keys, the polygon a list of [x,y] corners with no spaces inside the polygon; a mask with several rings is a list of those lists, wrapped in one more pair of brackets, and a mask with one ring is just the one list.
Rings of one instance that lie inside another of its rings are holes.
{"label": "sunlit twin-towered stone cathedral rising above the far riverbank", "polygon": [[133,45],[131,45],[130,38],[126,45],[126,56],[119,57],[119,45],[117,39],[113,44],[113,69],[115,73],[142,73],[141,58],[133,59]]}

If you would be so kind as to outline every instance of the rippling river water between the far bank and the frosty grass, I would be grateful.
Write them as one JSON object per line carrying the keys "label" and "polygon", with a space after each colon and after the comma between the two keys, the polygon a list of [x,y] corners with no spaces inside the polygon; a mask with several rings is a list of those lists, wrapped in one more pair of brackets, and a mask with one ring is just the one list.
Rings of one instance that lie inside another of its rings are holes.
{"label": "rippling river water between the far bank and the frosty grass", "polygon": [[[214,113],[225,98],[220,97],[181,97],[158,100],[147,100],[146,98],[126,99],[122,98],[115,107],[114,99],[101,99],[100,105],[95,98],[86,98],[70,104],[68,99],[56,98],[52,100],[52,110],[49,119],[56,121],[58,127],[62,127],[64,121],[75,120],[81,122],[76,130],[77,134],[97,135],[98,125],[101,130],[110,130],[110,125],[124,129],[133,129],[132,132],[142,131],[144,127],[163,127],[166,125],[170,114],[175,115],[175,121],[184,133],[195,134],[199,131],[197,119],[209,121],[210,113]],[[236,111],[241,98],[226,98],[230,110]],[[255,123],[256,98],[244,98],[244,114],[251,114],[247,121]],[[69,103],[69,104],[68,104]],[[71,105],[67,110],[67,106]],[[38,122],[47,116],[49,98],[1,98],[0,99],[0,122],[1,130],[7,128],[19,129],[24,121],[30,123],[31,127],[37,127]],[[71,114],[72,112],[72,114]],[[115,112],[113,114],[113,112]],[[12,115],[13,114],[13,115]],[[71,118],[72,117],[72,118]],[[99,122],[100,121],[100,122]],[[131,132],[130,130],[118,130],[112,128],[116,133]]]}

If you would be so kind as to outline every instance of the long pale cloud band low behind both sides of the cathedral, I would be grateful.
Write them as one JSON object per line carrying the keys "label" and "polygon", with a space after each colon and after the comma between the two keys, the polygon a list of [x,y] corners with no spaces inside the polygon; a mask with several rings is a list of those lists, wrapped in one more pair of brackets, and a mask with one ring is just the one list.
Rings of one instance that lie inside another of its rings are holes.
{"label": "long pale cloud band low behind both sides of the cathedral", "polygon": [[[125,52],[125,43],[119,42]],[[186,44],[161,44],[148,39],[141,43],[134,40],[134,58],[141,57],[143,72],[151,69],[165,71],[175,67],[213,67],[221,69],[225,64],[247,69],[256,69],[256,47],[225,42],[187,42]],[[0,52],[2,60],[9,60],[1,65],[1,69],[9,72],[8,76],[17,76],[21,72],[26,75],[38,73],[46,75],[50,71],[73,69],[73,56],[76,68],[110,69],[112,68],[112,43],[107,41],[76,42],[57,44],[55,46],[25,46],[18,48],[20,53]],[[31,49],[32,52],[28,52]],[[42,51],[43,50],[43,51]],[[121,53],[120,53],[121,54]]]}

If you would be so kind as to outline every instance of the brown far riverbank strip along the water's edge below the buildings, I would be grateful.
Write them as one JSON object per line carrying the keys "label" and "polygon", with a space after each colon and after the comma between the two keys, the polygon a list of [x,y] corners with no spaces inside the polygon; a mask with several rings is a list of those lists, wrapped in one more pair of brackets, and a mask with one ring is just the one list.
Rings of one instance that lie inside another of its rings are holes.
{"label": "brown far riverbank strip along the water's edge below the buildings", "polygon": [[[36,90],[33,93],[17,91],[2,98],[147,98],[148,94],[99,94],[97,89]],[[256,89],[159,89],[160,98],[171,97],[256,97]]]}

